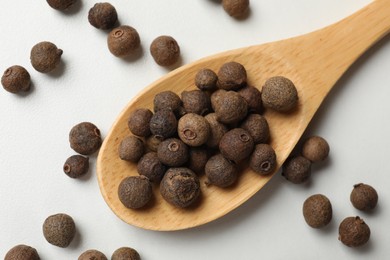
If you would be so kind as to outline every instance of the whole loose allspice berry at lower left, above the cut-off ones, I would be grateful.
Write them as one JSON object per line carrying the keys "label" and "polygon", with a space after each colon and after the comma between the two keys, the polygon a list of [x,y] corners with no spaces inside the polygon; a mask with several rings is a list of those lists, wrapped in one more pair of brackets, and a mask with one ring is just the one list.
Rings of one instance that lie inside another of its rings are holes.
{"label": "whole loose allspice berry at lower left, above the cut-off ones", "polygon": [[73,218],[63,213],[47,217],[42,229],[47,242],[62,248],[68,247],[76,234]]}

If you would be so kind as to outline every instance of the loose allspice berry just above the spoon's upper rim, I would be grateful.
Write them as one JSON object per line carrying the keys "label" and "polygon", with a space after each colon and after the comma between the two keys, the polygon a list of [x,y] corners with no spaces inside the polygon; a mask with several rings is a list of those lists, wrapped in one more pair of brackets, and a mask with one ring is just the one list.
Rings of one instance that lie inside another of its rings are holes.
{"label": "loose allspice berry just above the spoon's upper rim", "polygon": [[160,66],[170,66],[179,60],[180,47],[171,36],[159,36],[150,45],[150,54]]}

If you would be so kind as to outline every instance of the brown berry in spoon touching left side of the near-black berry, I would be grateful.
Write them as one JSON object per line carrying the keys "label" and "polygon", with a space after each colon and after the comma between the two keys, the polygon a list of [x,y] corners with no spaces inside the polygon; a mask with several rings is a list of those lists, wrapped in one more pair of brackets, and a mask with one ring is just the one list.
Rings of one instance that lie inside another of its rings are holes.
{"label": "brown berry in spoon touching left side of the near-black berry", "polygon": [[152,111],[146,108],[133,111],[127,121],[130,132],[137,136],[148,137],[151,134],[149,124],[152,116]]}

